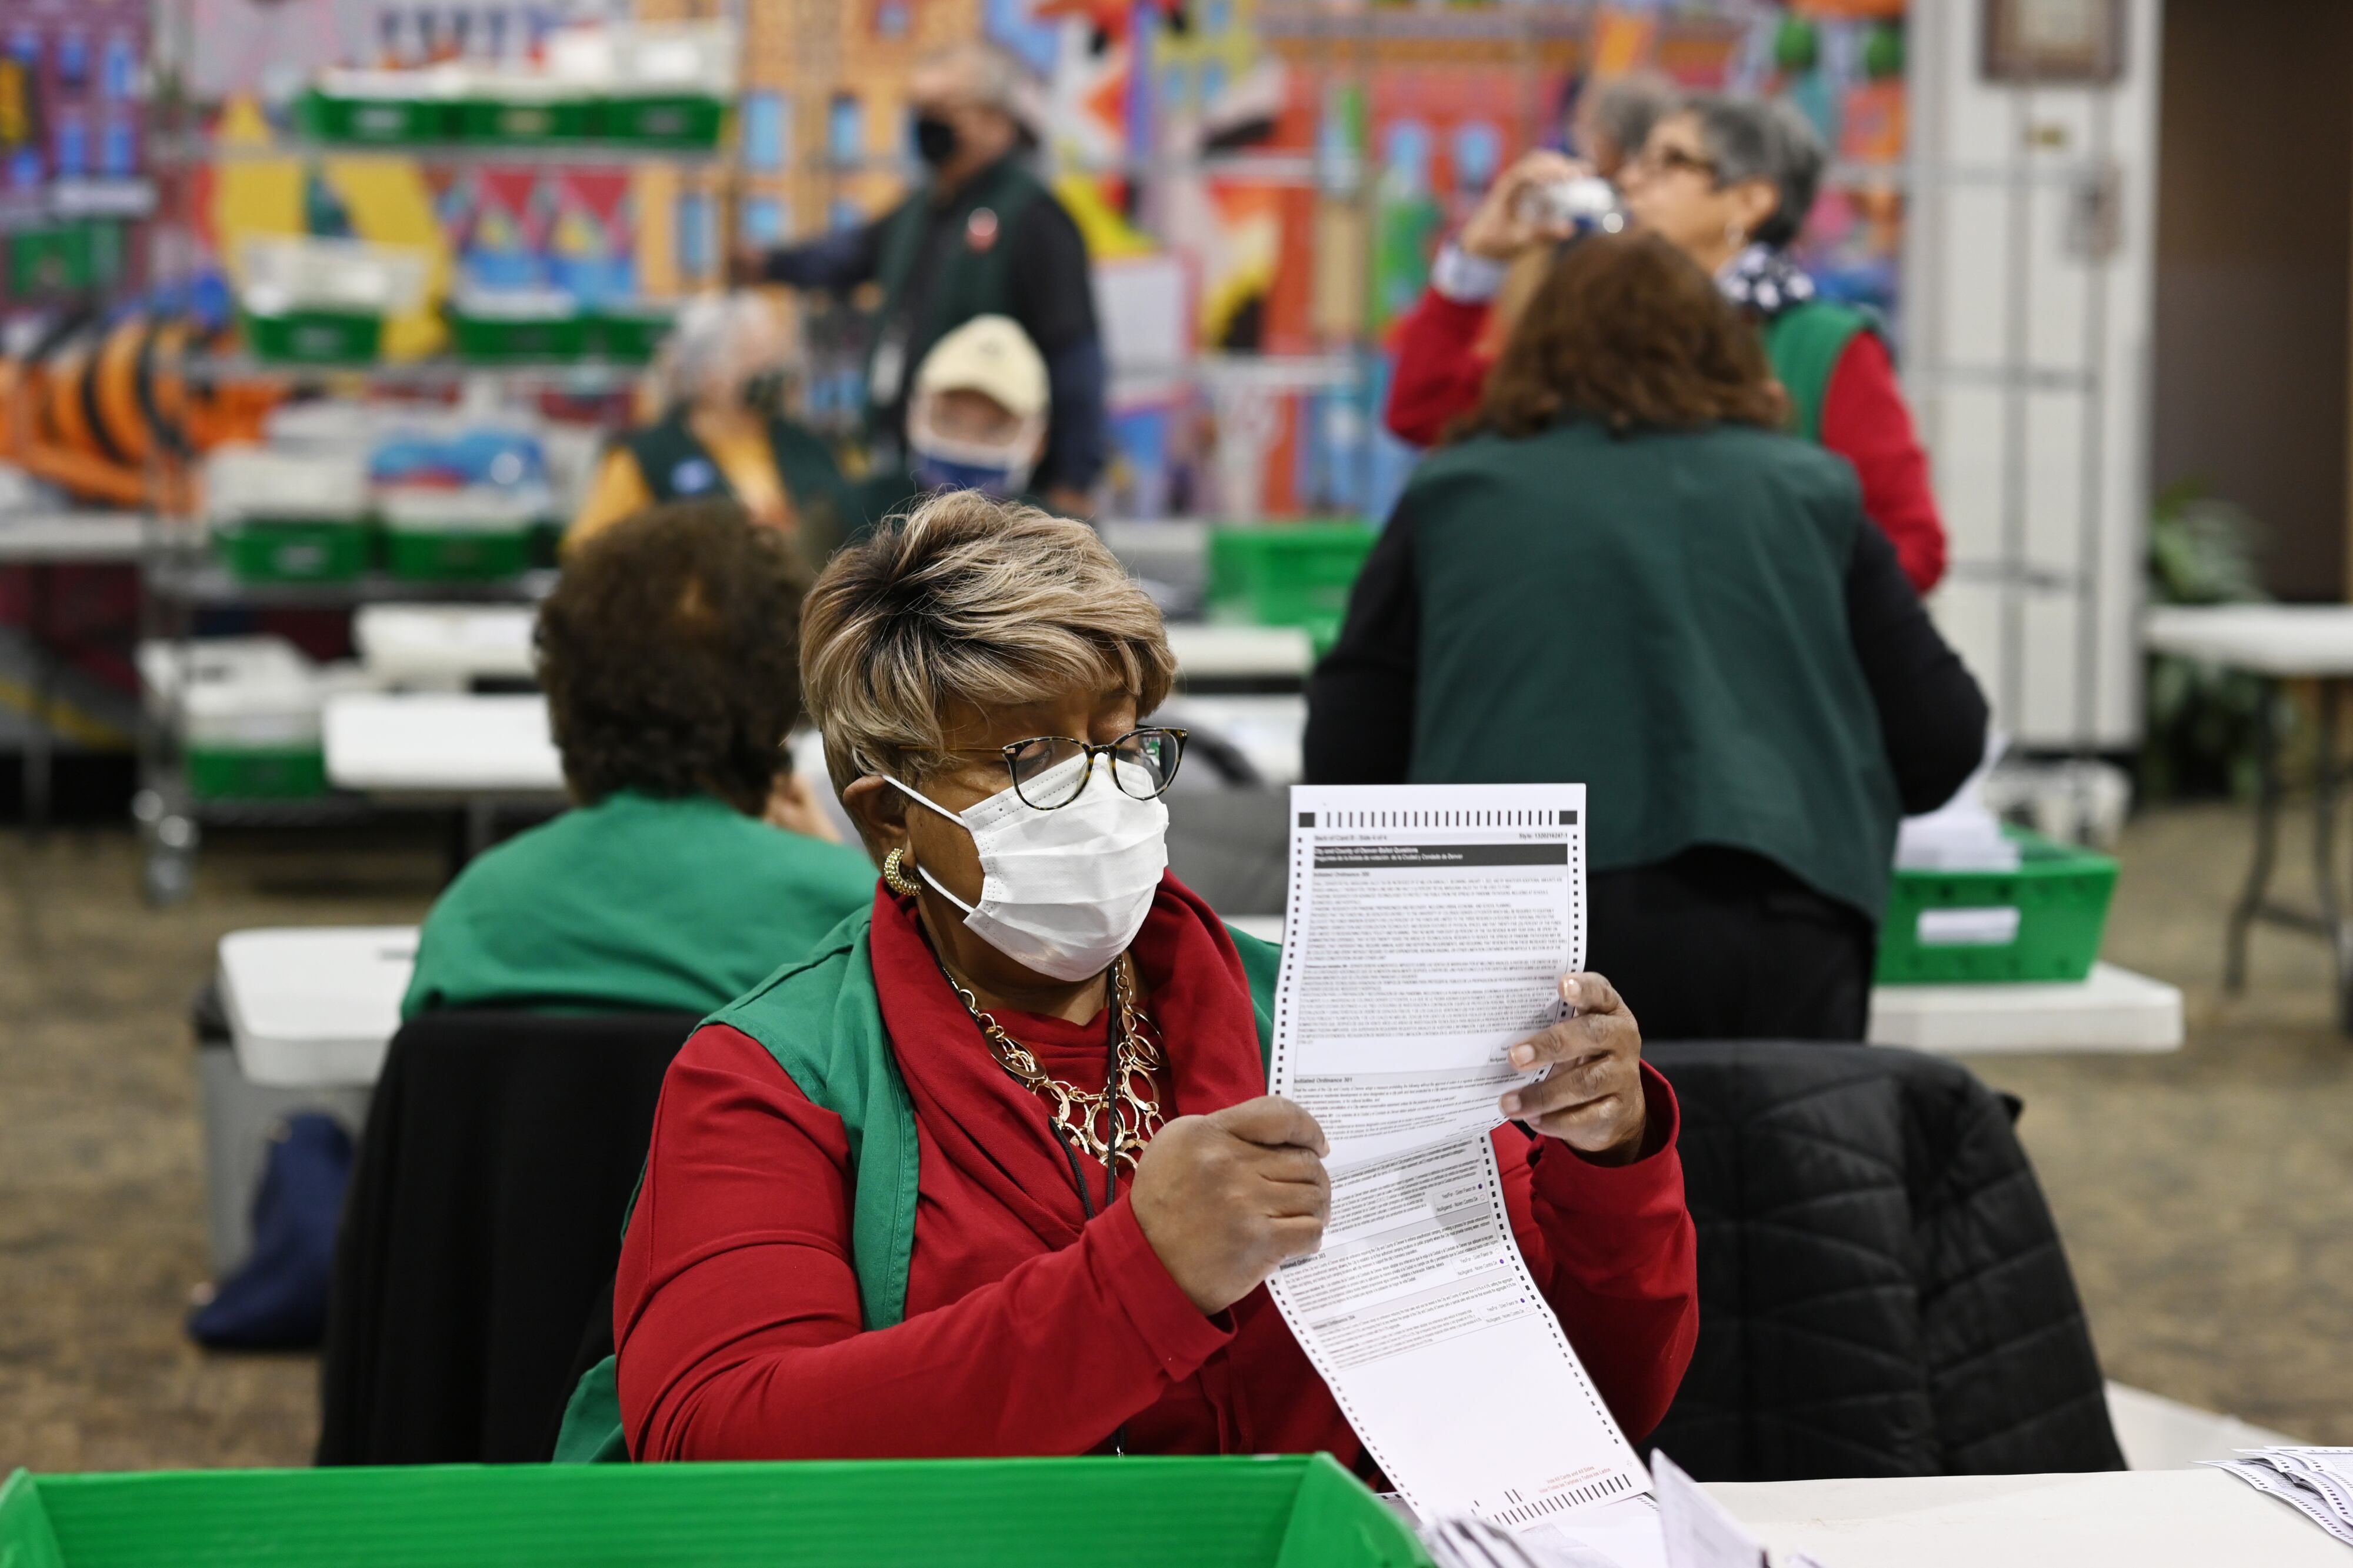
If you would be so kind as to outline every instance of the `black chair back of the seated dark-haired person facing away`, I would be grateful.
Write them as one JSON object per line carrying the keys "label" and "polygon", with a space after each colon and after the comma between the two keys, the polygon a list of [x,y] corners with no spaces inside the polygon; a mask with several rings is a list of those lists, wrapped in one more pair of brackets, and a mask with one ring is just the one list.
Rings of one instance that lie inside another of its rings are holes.
{"label": "black chair back of the seated dark-haired person facing away", "polygon": [[320,1464],[546,1457],[689,1012],[426,1012],[336,1238]]}

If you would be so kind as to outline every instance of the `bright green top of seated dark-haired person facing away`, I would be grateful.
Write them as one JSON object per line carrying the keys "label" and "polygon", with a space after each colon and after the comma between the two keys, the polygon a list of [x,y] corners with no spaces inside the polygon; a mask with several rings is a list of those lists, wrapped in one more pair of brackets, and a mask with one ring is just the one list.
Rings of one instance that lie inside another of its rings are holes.
{"label": "bright green top of seated dark-haired person facing away", "polygon": [[859,850],[713,796],[616,791],[459,871],[424,921],[400,1015],[522,1001],[708,1012],[873,890]]}

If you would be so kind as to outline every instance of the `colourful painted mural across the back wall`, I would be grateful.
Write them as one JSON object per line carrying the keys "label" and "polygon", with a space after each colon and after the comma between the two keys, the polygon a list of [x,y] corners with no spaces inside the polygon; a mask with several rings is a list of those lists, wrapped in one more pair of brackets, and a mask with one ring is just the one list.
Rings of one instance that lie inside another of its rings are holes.
{"label": "colourful painted mural across the back wall", "polygon": [[[318,64],[511,52],[607,12],[715,14],[713,0],[184,2],[209,28],[191,78],[226,101],[289,87],[264,80],[287,71],[259,47],[264,14]],[[1414,457],[1379,431],[1384,346],[1435,247],[1508,160],[1572,141],[1581,92],[1626,73],[1795,104],[1835,158],[1800,257],[1826,292],[1899,325],[1904,0],[755,0],[736,14],[725,174],[252,165],[240,181],[266,195],[212,212],[228,228],[393,238],[421,205],[452,278],[708,287],[736,240],[809,238],[896,200],[908,68],[988,35],[1045,80],[1045,162],[1118,290],[1113,509],[1127,516],[1381,513]],[[859,400],[842,374],[812,377],[835,414]]]}

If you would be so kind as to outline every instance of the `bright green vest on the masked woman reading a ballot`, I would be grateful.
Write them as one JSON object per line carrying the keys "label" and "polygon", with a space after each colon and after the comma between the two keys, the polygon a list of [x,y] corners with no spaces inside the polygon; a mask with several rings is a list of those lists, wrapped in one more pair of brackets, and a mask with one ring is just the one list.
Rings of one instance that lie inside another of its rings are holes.
{"label": "bright green vest on the masked woman reading a ballot", "polygon": [[[915,1102],[908,1099],[882,1031],[868,928],[873,909],[835,925],[800,963],[713,1012],[708,1024],[739,1029],[776,1057],[809,1104],[842,1118],[849,1135],[849,1264],[859,1276],[866,1328],[906,1316],[906,1269],[915,1253]],[[1275,1038],[1275,970],[1282,949],[1228,932],[1249,979],[1259,1057]],[[631,1198],[635,1208],[635,1198]],[[565,1406],[555,1462],[628,1460],[614,1358],[591,1368]]]}

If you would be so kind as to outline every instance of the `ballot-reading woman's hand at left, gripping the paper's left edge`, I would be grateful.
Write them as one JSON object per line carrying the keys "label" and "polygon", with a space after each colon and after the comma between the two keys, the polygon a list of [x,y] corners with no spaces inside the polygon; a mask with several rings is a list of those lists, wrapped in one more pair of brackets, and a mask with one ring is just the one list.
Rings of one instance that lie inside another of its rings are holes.
{"label": "ballot-reading woman's hand at left, gripping the paper's left edge", "polygon": [[1257,1290],[1287,1257],[1322,1245],[1332,1180],[1322,1128],[1280,1095],[1160,1128],[1129,1205],[1169,1278],[1205,1314]]}

